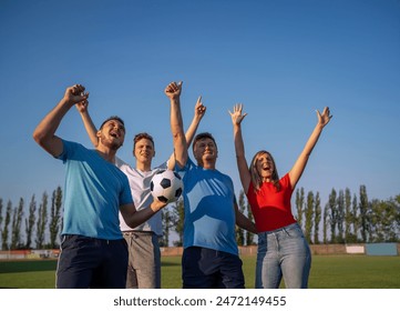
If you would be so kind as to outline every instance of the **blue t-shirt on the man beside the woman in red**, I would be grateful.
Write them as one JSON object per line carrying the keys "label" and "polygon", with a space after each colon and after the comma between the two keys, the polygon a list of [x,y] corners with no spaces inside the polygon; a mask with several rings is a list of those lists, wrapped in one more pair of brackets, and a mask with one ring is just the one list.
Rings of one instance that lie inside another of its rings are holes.
{"label": "blue t-shirt on the man beside the woman in red", "polygon": [[184,182],[184,248],[202,247],[237,255],[232,179],[191,159],[176,170]]}

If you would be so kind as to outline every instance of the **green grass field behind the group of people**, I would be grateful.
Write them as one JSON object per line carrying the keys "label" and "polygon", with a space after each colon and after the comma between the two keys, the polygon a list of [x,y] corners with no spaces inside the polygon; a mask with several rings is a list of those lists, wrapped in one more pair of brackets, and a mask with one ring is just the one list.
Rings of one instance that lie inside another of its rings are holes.
{"label": "green grass field behind the group of people", "polygon": [[[243,257],[246,288],[254,288],[255,257]],[[0,261],[0,288],[53,289],[55,260]],[[181,257],[162,258],[162,287],[182,288]],[[400,289],[400,258],[314,255],[311,289]]]}

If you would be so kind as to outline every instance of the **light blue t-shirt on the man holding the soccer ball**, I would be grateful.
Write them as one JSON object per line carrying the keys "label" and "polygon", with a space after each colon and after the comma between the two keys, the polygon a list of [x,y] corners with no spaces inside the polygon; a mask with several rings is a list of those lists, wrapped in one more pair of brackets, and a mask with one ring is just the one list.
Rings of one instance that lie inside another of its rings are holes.
{"label": "light blue t-shirt on the man holding the soccer ball", "polygon": [[66,164],[62,234],[122,239],[119,209],[132,203],[126,175],[95,150],[63,140]]}

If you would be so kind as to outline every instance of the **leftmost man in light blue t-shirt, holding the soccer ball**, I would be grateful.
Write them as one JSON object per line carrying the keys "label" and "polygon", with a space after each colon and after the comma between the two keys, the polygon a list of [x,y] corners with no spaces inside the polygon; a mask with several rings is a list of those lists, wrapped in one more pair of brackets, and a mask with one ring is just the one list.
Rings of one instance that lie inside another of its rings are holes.
{"label": "leftmost man in light blue t-shirt, holding the soccer ball", "polygon": [[76,103],[86,103],[81,84],[66,89],[63,99],[39,123],[33,139],[66,165],[64,220],[57,288],[125,288],[127,247],[120,230],[119,211],[136,227],[166,204],[154,200],[136,211],[126,175],[115,165],[125,138],[119,117],[106,119],[94,150],[55,136],[61,120]]}

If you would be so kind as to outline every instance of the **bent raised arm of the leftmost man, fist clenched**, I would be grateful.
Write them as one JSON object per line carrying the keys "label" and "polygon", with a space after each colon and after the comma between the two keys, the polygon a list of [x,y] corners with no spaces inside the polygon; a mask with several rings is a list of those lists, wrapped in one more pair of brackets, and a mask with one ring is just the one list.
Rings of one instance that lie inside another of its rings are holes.
{"label": "bent raised arm of the leftmost man, fist clenched", "polygon": [[53,157],[60,156],[63,151],[62,141],[55,136],[55,131],[62,118],[72,106],[88,100],[89,93],[85,93],[84,90],[84,87],[81,84],[68,88],[62,100],[43,118],[33,131],[34,141]]}

